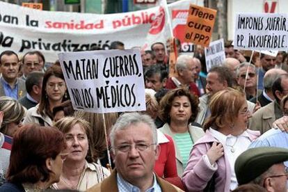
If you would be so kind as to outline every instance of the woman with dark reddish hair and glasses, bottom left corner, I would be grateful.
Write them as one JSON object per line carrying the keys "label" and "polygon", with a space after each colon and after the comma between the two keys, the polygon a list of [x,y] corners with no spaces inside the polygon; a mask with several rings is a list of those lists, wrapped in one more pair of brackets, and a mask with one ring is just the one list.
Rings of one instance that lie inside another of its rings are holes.
{"label": "woman with dark reddish hair and glasses, bottom left corner", "polygon": [[42,191],[59,181],[66,154],[54,127],[24,125],[15,132],[6,183],[0,191]]}

